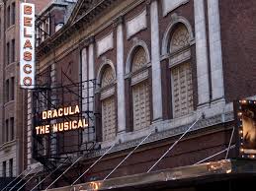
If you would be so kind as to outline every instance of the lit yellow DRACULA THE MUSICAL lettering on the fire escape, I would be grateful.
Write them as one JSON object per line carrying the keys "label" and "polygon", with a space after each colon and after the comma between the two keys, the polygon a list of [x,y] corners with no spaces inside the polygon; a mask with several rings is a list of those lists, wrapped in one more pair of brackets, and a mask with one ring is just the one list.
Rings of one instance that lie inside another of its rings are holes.
{"label": "lit yellow DRACULA THE MUSICAL lettering on the fire escape", "polygon": [[[76,105],[74,107],[63,107],[52,110],[45,110],[42,113],[42,120],[56,119],[59,117],[68,118],[68,116],[79,114],[80,109],[79,106]],[[81,128],[88,127],[87,120],[85,118],[77,119],[77,120],[69,120],[64,122],[56,122],[52,124],[46,124],[36,127],[37,135],[44,135],[49,133],[58,133],[65,132],[70,130],[76,130]]]}

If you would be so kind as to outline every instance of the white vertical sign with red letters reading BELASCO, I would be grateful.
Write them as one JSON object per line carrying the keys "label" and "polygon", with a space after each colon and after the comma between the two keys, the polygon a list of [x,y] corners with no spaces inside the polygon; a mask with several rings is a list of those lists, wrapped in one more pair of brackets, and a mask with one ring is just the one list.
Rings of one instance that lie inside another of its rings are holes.
{"label": "white vertical sign with red letters reading BELASCO", "polygon": [[20,85],[35,85],[35,5],[21,3],[20,10]]}

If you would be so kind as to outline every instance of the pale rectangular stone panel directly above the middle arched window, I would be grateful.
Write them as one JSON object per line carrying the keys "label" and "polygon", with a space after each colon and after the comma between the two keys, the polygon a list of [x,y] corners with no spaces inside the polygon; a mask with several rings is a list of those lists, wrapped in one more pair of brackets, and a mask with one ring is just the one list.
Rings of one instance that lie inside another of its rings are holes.
{"label": "pale rectangular stone panel directly above the middle arched window", "polygon": [[127,37],[146,29],[146,9],[127,22]]}

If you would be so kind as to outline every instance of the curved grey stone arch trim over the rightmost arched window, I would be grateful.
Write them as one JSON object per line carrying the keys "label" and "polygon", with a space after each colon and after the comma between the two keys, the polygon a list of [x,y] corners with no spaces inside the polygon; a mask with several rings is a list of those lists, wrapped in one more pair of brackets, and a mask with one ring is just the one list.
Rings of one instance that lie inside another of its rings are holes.
{"label": "curved grey stone arch trim over the rightmost arched window", "polygon": [[195,35],[193,33],[193,30],[189,21],[186,18],[182,16],[178,16],[175,13],[171,17],[172,17],[171,23],[166,28],[166,31],[164,32],[163,39],[162,39],[162,50],[161,50],[162,58],[165,58],[166,56],[168,56],[171,33],[174,31],[175,27],[179,24],[183,24],[187,28],[189,32],[190,45],[195,44]]}

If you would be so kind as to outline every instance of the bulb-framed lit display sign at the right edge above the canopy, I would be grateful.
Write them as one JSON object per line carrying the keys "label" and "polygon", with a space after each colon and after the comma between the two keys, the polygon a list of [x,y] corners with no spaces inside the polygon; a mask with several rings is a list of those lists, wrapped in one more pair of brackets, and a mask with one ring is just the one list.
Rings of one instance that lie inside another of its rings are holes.
{"label": "bulb-framed lit display sign at the right edge above the canopy", "polygon": [[242,159],[256,157],[256,100],[239,100],[234,105],[238,134],[238,156]]}

